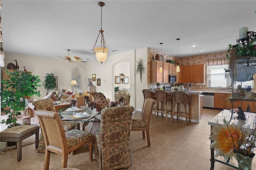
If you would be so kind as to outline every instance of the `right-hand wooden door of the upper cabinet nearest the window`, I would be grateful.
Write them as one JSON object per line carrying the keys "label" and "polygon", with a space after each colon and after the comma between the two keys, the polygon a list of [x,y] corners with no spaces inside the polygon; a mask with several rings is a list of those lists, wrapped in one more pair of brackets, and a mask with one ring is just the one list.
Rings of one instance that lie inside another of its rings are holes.
{"label": "right-hand wooden door of the upper cabinet nearest the window", "polygon": [[192,70],[193,83],[204,83],[204,79],[205,79],[204,70],[205,70],[204,64],[193,65],[193,70]]}

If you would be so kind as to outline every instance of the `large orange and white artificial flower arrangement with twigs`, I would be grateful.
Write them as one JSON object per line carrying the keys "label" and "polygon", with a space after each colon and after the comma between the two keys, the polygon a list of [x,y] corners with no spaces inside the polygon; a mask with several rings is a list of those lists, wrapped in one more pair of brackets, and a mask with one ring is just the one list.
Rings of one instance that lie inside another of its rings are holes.
{"label": "large orange and white artificial flower arrangement with twigs", "polygon": [[[245,122],[228,123],[223,119],[223,125],[218,122],[212,127],[210,149],[216,150],[215,156],[224,156],[224,159],[232,157],[236,159],[236,154],[243,154],[253,158],[256,150],[256,118],[250,113],[246,116]],[[245,127],[246,126],[246,127]],[[237,160],[237,159],[236,159]]]}

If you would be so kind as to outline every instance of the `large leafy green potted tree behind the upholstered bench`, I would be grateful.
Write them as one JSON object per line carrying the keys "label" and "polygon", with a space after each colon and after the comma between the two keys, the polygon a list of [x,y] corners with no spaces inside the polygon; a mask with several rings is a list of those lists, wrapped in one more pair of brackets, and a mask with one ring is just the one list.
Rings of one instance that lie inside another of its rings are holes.
{"label": "large leafy green potted tree behind the upholstered bench", "polygon": [[5,123],[8,128],[14,127],[17,122],[18,115],[21,115],[20,111],[25,110],[25,96],[36,95],[40,97],[40,91],[37,87],[40,87],[38,83],[40,79],[38,76],[26,73],[23,71],[8,71],[10,79],[2,80],[3,86],[1,88],[1,107],[9,107],[10,110],[5,110],[5,114],[8,115],[8,119],[2,120],[0,123]]}

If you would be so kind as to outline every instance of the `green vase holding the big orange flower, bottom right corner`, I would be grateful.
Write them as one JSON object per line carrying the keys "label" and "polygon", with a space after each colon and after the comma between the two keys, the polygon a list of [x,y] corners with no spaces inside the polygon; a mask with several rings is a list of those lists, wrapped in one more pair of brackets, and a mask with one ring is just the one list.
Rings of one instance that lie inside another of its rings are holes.
{"label": "green vase holding the big orange flower, bottom right corner", "polygon": [[255,156],[254,153],[252,153],[252,158],[244,154],[235,154],[238,162],[238,170],[252,170],[252,159]]}

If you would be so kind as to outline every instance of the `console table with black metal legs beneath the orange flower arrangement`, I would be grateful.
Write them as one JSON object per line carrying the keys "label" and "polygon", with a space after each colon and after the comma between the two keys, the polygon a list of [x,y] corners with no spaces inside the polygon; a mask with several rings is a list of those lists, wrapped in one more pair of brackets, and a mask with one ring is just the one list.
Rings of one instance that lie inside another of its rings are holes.
{"label": "console table with black metal legs beneath the orange flower arrangement", "polygon": [[[244,114],[246,115],[246,117],[248,116],[248,114],[250,114],[250,115],[252,116],[252,118],[251,118],[252,120],[254,120],[255,117],[256,117],[256,113],[246,113],[246,112],[244,112]],[[210,120],[210,121],[208,122],[208,125],[211,125],[211,130],[212,130],[212,127],[217,123],[217,121],[218,121],[218,124],[223,125],[223,119],[224,119],[224,117],[225,117],[226,121],[229,121],[229,120],[230,120],[230,117],[231,117],[231,111],[230,111],[230,110],[223,110],[223,111],[221,111],[218,115],[216,115],[214,118],[212,118],[212,120]],[[231,124],[231,123],[238,124],[239,122],[245,123],[244,120],[240,120],[240,119],[234,118],[234,114],[233,114],[233,117],[232,117],[232,119],[231,119],[231,121],[230,121],[230,124]],[[252,125],[249,125],[249,124],[246,124],[245,127],[248,128],[248,129],[252,129]],[[212,133],[211,133],[211,134],[212,134]],[[214,141],[211,140],[211,143],[212,143],[212,142],[214,142]],[[228,161],[227,161],[227,162],[223,162],[223,161],[221,161],[221,160],[218,160],[218,159],[214,158],[214,148],[211,149],[211,158],[210,158],[210,161],[211,161],[211,168],[210,168],[210,170],[214,170],[214,162],[215,162],[215,161],[220,162],[220,163],[222,163],[222,164],[225,164],[225,165],[227,165],[227,166],[231,166],[231,167],[233,167],[233,168],[238,169],[237,166],[234,166],[234,165],[232,165],[232,164],[229,164]]]}

